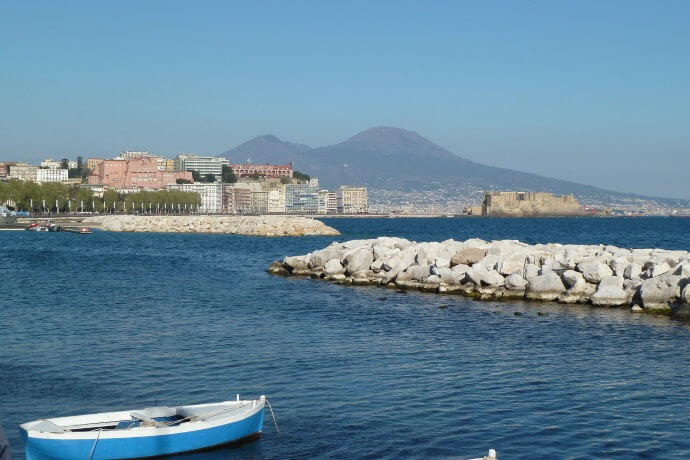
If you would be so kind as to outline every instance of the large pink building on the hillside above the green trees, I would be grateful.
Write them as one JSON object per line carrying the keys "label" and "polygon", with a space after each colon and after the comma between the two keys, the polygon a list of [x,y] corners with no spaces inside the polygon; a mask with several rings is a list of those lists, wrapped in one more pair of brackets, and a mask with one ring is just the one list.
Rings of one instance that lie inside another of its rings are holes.
{"label": "large pink building on the hillside above the green trees", "polygon": [[165,188],[177,179],[194,182],[191,171],[161,171],[153,157],[138,157],[130,160],[103,160],[87,177],[89,184],[109,187]]}

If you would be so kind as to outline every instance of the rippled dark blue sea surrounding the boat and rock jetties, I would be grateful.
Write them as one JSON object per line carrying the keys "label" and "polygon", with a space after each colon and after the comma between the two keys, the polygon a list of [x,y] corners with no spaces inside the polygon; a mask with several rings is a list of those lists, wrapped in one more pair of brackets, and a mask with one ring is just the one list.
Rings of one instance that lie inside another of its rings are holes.
{"label": "rippled dark blue sea surrounding the boat and rock jetties", "polygon": [[267,413],[259,440],[188,458],[690,458],[685,323],[265,272],[381,235],[688,250],[690,219],[326,222],[342,236],[0,232],[13,456],[22,422],[240,393],[281,433]]}

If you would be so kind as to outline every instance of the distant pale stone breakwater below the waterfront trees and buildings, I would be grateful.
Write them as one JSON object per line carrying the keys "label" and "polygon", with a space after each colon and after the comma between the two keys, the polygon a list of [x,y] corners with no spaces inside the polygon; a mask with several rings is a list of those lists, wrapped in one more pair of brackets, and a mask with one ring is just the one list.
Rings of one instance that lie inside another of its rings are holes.
{"label": "distant pale stone breakwater below the waterfront trees and buildings", "polygon": [[316,219],[297,216],[133,216],[89,218],[89,225],[111,232],[234,233],[252,236],[339,235]]}

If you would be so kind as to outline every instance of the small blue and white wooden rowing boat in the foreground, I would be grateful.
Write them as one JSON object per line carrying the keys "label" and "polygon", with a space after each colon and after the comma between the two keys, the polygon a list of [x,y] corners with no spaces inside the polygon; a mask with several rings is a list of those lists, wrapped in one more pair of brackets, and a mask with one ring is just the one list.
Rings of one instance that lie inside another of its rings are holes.
{"label": "small blue and white wooden rowing boat in the foreground", "polygon": [[123,459],[219,446],[261,433],[264,404],[224,401],[36,420],[20,426],[27,460]]}

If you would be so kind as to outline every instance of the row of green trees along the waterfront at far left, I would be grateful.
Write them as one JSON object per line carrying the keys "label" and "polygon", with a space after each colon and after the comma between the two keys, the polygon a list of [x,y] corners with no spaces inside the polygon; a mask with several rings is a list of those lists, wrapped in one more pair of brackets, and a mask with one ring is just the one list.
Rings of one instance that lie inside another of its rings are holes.
{"label": "row of green trees along the waterfront at far left", "polygon": [[[88,188],[58,182],[42,184],[10,180],[0,182],[0,204],[8,204],[17,211],[28,212],[177,212],[201,206],[196,192],[180,190],[118,193],[106,190],[97,197]],[[179,206],[179,208],[178,208]]]}

